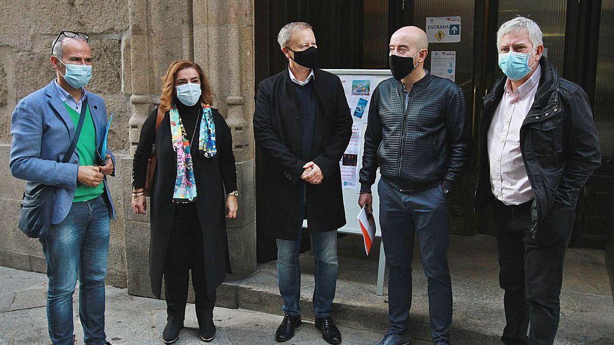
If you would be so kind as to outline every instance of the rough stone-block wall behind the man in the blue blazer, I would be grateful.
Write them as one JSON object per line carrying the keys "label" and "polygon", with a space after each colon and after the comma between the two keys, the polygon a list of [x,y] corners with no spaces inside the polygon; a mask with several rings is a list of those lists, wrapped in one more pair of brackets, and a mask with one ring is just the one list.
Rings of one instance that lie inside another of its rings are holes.
{"label": "rough stone-block wall behind the man in the blue blazer", "polygon": [[[51,45],[63,29],[90,35],[93,76],[88,90],[103,96],[115,115],[110,146],[118,155],[128,154],[129,94],[125,93],[125,61],[128,37],[128,0],[111,1],[12,1],[0,15],[0,265],[44,272],[39,242],[17,228],[19,204],[25,183],[10,176],[10,118],[15,105],[54,77],[49,61]],[[130,61],[128,61],[128,66]],[[130,90],[130,87],[128,87]],[[122,172],[121,166],[118,171]],[[128,169],[129,171],[129,169]],[[112,193],[121,195],[119,178],[110,178]],[[121,203],[121,200],[115,202]],[[126,286],[123,214],[111,226],[108,282]]]}

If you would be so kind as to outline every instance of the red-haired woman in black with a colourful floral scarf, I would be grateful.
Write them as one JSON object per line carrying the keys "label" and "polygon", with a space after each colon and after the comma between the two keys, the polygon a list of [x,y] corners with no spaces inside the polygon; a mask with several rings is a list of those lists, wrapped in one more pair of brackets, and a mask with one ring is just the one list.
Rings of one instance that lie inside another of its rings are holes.
{"label": "red-haired woman in black with a colourful floral scarf", "polygon": [[132,207],[136,214],[146,212],[147,160],[153,152],[149,269],[158,298],[162,276],[165,281],[168,317],[162,338],[166,344],[179,339],[192,269],[198,334],[211,341],[216,288],[230,273],[225,218],[236,218],[238,209],[232,137],[211,107],[211,88],[198,64],[175,61],[162,82],[165,114],[157,128],[158,109],[153,109],[134,153]]}

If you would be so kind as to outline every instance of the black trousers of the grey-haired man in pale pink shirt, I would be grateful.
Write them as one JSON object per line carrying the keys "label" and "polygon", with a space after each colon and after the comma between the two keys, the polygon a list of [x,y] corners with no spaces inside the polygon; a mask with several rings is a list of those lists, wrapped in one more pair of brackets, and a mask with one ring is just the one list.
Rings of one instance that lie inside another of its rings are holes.
{"label": "black trousers of the grey-haired man in pale pink shirt", "polygon": [[493,206],[499,284],[505,290],[501,341],[507,345],[551,345],[559,327],[563,261],[575,211],[555,204],[533,236],[531,204]]}

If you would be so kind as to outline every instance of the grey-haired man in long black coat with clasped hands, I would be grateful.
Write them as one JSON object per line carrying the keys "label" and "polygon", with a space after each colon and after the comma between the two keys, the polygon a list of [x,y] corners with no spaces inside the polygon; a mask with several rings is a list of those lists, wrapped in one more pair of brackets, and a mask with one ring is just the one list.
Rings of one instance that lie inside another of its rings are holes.
{"label": "grey-haired man in long black coat with clasped hands", "polygon": [[284,71],[258,85],[254,137],[262,150],[258,186],[266,212],[259,222],[277,239],[279,292],[286,314],[276,340],[287,341],[300,325],[298,248],[307,219],[316,255],[316,328],[330,344],[341,334],[330,318],[338,271],[336,230],[345,225],[339,161],[352,134],[352,118],[339,77],[315,68],[311,26],[289,23],[279,31]]}

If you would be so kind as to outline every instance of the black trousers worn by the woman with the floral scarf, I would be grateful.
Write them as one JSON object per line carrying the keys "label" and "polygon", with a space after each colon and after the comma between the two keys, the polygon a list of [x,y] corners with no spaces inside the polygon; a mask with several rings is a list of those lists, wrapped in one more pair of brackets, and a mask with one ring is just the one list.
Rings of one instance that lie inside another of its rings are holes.
{"label": "black trousers worn by the woman with the floral scarf", "polygon": [[190,269],[192,269],[192,286],[196,297],[196,318],[198,325],[204,325],[204,322],[213,319],[216,292],[211,294],[206,292],[203,233],[194,205],[177,204],[164,268],[168,314],[166,320],[169,322],[176,324],[184,322]]}

